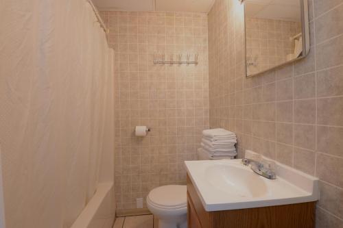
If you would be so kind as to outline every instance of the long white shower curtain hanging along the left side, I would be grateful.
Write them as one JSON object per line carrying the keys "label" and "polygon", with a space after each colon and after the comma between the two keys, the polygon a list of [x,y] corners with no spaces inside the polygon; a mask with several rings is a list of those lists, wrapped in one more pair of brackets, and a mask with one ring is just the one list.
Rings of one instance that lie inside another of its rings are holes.
{"label": "long white shower curtain hanging along the left side", "polygon": [[113,151],[112,64],[86,0],[0,0],[6,227],[71,227],[93,197]]}

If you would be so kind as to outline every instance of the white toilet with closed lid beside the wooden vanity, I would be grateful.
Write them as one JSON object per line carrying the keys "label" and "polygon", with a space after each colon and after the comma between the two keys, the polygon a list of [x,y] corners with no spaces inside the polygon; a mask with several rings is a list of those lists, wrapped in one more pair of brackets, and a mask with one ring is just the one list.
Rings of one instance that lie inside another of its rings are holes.
{"label": "white toilet with closed lid beside the wooden vanity", "polygon": [[147,195],[147,208],[158,228],[187,228],[187,186],[161,186]]}

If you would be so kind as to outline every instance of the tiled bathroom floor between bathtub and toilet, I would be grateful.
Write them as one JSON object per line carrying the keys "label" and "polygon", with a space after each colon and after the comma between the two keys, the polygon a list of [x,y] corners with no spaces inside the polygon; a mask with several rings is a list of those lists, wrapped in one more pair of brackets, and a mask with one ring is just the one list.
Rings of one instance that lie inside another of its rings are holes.
{"label": "tiled bathroom floor between bathtub and toilet", "polygon": [[157,226],[154,226],[154,217],[150,214],[117,218],[113,228],[157,228]]}

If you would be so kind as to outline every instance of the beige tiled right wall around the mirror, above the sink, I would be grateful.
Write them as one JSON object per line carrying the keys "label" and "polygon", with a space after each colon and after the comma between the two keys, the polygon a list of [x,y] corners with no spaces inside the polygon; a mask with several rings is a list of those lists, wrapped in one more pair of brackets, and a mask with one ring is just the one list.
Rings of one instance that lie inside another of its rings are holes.
{"label": "beige tiled right wall around the mirror, above the sink", "polygon": [[309,56],[246,79],[243,9],[216,0],[209,13],[210,126],[320,178],[318,228],[343,227],[343,1],[309,0]]}

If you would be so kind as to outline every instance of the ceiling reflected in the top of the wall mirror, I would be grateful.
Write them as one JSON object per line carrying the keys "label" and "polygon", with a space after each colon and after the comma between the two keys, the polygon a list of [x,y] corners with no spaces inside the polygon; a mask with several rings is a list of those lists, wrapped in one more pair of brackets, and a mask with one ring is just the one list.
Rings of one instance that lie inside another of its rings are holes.
{"label": "ceiling reflected in the top of the wall mirror", "polygon": [[300,22],[300,0],[246,0],[246,16]]}

